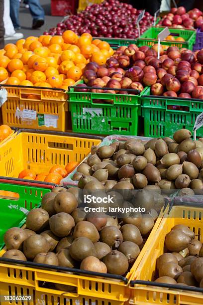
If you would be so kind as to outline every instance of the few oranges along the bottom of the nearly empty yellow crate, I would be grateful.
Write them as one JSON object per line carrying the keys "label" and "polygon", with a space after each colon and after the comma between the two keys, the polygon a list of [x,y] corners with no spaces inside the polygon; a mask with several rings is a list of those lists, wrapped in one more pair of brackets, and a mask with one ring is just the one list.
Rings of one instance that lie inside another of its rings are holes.
{"label": "few oranges along the bottom of the nearly empty yellow crate", "polygon": [[59,184],[77,165],[78,162],[71,161],[66,166],[54,165],[49,172],[41,172],[38,174],[32,169],[23,169],[19,173],[18,178]]}

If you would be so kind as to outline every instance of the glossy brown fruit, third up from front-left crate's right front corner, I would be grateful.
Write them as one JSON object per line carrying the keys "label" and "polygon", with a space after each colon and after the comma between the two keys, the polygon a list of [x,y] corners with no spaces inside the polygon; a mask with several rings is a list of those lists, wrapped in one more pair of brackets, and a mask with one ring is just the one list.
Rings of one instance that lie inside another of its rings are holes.
{"label": "glossy brown fruit, third up from front-left crate's right front corner", "polygon": [[125,224],[120,228],[120,231],[122,233],[123,241],[131,241],[138,246],[142,244],[142,236],[139,229],[135,225]]}

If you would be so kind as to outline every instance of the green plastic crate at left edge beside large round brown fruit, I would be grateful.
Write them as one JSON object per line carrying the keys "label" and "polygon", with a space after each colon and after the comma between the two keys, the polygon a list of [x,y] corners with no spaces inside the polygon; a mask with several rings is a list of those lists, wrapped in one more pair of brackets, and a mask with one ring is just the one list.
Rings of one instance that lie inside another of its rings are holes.
{"label": "green plastic crate at left edge beside large round brown fruit", "polygon": [[[19,180],[19,179],[18,179]],[[35,185],[35,186],[34,186]],[[21,221],[34,207],[41,204],[42,197],[52,190],[51,183],[31,183],[0,177],[0,190],[19,194],[19,198],[0,196],[0,249],[3,247],[3,235],[11,227],[21,227]],[[4,197],[4,198],[3,198]]]}

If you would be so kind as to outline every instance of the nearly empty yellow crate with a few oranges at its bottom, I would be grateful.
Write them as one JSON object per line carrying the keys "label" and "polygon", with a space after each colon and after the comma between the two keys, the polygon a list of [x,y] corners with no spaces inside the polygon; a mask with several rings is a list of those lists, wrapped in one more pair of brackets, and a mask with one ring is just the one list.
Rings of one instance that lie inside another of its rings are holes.
{"label": "nearly empty yellow crate with a few oranges at its bottom", "polygon": [[36,173],[49,171],[53,165],[82,161],[102,137],[20,130],[0,146],[0,175],[18,178],[23,169]]}

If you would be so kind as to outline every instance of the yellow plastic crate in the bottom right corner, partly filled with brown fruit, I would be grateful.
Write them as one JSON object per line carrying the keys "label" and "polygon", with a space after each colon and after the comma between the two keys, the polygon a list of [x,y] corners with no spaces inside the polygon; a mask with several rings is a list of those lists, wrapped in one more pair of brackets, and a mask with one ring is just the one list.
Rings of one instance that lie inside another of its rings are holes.
{"label": "yellow plastic crate in the bottom right corner, partly filled with brown fruit", "polygon": [[[131,280],[154,281],[156,260],[164,253],[165,236],[177,224],[188,226],[196,234],[196,239],[203,242],[203,208],[174,206],[170,214],[163,217],[151,244],[142,258]],[[131,283],[132,285],[133,283]],[[166,290],[161,287],[134,284],[130,287],[133,305],[202,305],[203,295],[193,292]]]}

